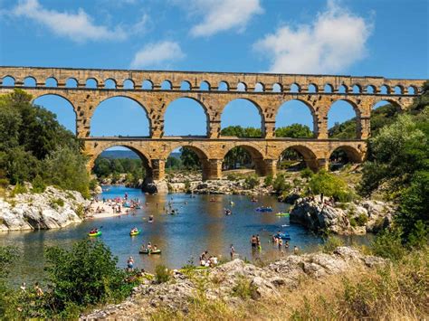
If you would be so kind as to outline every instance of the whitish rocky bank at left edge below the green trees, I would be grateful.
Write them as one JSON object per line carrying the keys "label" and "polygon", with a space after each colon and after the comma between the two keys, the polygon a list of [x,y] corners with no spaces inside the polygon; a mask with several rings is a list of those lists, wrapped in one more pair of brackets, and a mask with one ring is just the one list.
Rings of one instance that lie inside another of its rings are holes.
{"label": "whitish rocky bank at left edge below the green trees", "polygon": [[62,191],[52,186],[33,193],[25,184],[24,193],[14,194],[12,187],[0,198],[0,231],[49,230],[82,222],[90,205],[79,192]]}

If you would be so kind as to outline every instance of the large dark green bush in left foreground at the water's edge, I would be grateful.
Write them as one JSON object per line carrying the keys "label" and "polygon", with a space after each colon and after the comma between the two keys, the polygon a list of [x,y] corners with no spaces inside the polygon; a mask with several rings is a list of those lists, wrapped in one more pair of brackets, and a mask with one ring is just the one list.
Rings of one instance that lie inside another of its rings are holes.
{"label": "large dark green bush in left foreground at the water's edge", "polygon": [[118,259],[100,241],[79,241],[70,251],[50,247],[45,257],[53,311],[119,301],[133,287],[125,281],[126,272],[117,267]]}

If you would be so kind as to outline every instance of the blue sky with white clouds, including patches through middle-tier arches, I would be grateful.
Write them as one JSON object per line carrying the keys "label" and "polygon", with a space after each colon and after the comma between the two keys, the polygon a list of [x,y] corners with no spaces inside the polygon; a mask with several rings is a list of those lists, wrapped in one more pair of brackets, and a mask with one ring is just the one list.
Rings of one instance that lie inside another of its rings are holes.
{"label": "blue sky with white clouds, including patches through middle-tier arches", "polygon": [[[427,79],[428,4],[427,0],[0,0],[0,64]],[[62,99],[36,102],[74,129],[74,114]],[[205,134],[203,109],[189,100],[173,104],[166,114],[167,135]],[[353,116],[347,103],[336,104],[329,125]],[[310,126],[309,110],[299,103],[282,108],[277,126],[293,122]],[[245,101],[232,102],[222,116],[222,127],[260,123],[257,110]],[[148,135],[148,120],[135,103],[111,99],[96,110],[91,133]]]}

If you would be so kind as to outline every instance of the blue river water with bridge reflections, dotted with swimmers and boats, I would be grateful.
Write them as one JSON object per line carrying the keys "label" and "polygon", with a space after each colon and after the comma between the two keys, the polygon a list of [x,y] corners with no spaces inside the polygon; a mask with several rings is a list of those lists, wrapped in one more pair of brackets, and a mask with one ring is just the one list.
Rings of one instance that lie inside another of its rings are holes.
{"label": "blue river water with bridge reflections, dotted with swimmers and boats", "polygon": [[[0,233],[0,246],[13,245],[20,250],[20,257],[14,265],[11,282],[32,282],[43,279],[43,249],[59,246],[70,249],[76,241],[86,239],[92,227],[102,227],[100,241],[105,242],[115,256],[119,266],[125,267],[126,260],[133,256],[137,268],[153,271],[157,264],[165,264],[177,269],[189,262],[198,263],[199,255],[208,250],[209,254],[229,259],[229,248],[234,248],[239,258],[247,260],[274,260],[289,255],[294,245],[301,252],[318,250],[319,236],[305,230],[300,225],[290,224],[288,217],[278,217],[275,212],[288,212],[289,205],[277,202],[275,197],[260,196],[258,203],[251,202],[243,195],[195,195],[157,194],[145,195],[138,189],[124,186],[109,186],[99,197],[138,198],[148,203],[136,215],[121,215],[104,219],[93,219],[71,225],[61,230],[10,231]],[[215,202],[210,202],[214,198]],[[234,202],[231,205],[230,202]],[[164,208],[172,203],[179,214],[168,215]],[[256,212],[258,206],[272,206],[273,212]],[[225,216],[224,208],[231,208],[232,215]],[[148,216],[154,215],[155,222],[148,223]],[[289,226],[281,226],[289,225]],[[142,232],[136,237],[129,236],[132,227]],[[277,231],[288,231],[291,235],[291,250],[278,250],[271,243],[271,235]],[[259,234],[262,250],[253,252],[250,238]],[[366,243],[370,236],[354,236],[346,241]],[[151,241],[162,250],[161,255],[138,254],[142,242]]]}

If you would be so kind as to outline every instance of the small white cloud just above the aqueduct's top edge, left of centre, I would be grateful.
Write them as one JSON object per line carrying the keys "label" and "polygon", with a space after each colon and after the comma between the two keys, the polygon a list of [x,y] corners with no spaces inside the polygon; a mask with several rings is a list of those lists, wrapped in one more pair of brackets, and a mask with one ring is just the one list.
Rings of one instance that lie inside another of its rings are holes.
{"label": "small white cloud just above the aqueduct's top edge, left of centre", "polygon": [[181,60],[185,56],[177,42],[149,43],[135,54],[131,68],[159,67],[172,61]]}

